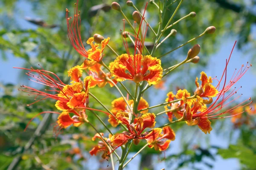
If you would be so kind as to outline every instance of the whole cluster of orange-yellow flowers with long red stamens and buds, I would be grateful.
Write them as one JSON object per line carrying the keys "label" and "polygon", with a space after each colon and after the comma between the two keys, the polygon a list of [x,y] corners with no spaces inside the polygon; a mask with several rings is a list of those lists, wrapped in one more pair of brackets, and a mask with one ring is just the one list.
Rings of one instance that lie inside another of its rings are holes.
{"label": "whole cluster of orange-yellow flowers with long red stamens and buds", "polygon": [[[127,5],[134,6],[131,1],[127,1]],[[112,8],[123,14],[118,3],[112,3]],[[195,91],[191,91],[190,93],[186,89],[178,89],[176,93],[171,91],[167,94],[166,102],[150,106],[143,98],[144,92],[152,85],[163,83],[162,78],[180,65],[189,62],[198,63],[200,46],[194,45],[188,51],[188,55],[183,62],[163,69],[160,59],[162,56],[154,56],[154,51],[163,43],[163,41],[158,43],[161,36],[163,36],[161,30],[158,31],[160,34],[155,33],[157,39],[152,52],[149,53],[148,49],[145,47],[147,30],[151,28],[145,20],[145,11],[146,7],[143,14],[139,11],[134,11],[134,26],[131,25],[131,30],[134,31],[134,35],[125,31],[125,22],[130,24],[130,21],[127,18],[123,21],[124,30],[121,32],[126,53],[117,55],[117,57],[110,62],[109,66],[107,66],[103,62],[106,51],[105,48],[110,48],[111,51],[114,51],[113,48],[108,45],[110,38],[105,39],[101,35],[95,34],[87,40],[87,45],[90,47],[88,50],[85,49],[81,39],[81,18],[80,11],[78,11],[77,0],[73,18],[69,17],[69,10],[66,9],[67,32],[71,45],[81,56],[85,57],[85,59],[81,65],[76,65],[67,71],[71,81],[70,84],[65,84],[56,74],[45,71],[43,68],[21,68],[29,71],[27,75],[32,77],[32,81],[47,86],[46,90],[40,91],[22,85],[22,91],[36,95],[35,100],[37,96],[43,96],[42,99],[51,98],[56,100],[55,107],[62,112],[50,113],[59,114],[58,120],[56,121],[58,130],[70,127],[71,125],[78,127],[83,123],[90,124],[93,129],[96,130],[96,135],[92,138],[92,141],[96,139],[100,140],[98,145],[90,150],[90,154],[93,156],[102,151],[102,158],[105,159],[115,152],[118,147],[122,147],[124,152],[122,154],[124,155],[122,155],[121,158],[117,156],[121,164],[120,166],[126,165],[123,164],[127,156],[127,154],[125,156],[125,153],[128,143],[130,143],[131,147],[132,144],[138,145],[140,142],[145,142],[148,147],[154,147],[155,150],[166,150],[170,142],[175,140],[175,132],[170,127],[172,123],[186,122],[188,126],[198,125],[198,127],[207,134],[212,130],[211,119],[232,117],[232,121],[237,122],[237,120],[241,119],[241,113],[248,112],[249,114],[255,114],[255,109],[251,110],[250,108],[250,99],[230,108],[231,103],[239,97],[233,98],[239,90],[239,88],[233,88],[233,85],[236,84],[251,66],[248,63],[245,66],[242,65],[239,71],[236,71],[230,81],[227,82],[227,65],[232,52],[230,57],[226,60],[226,66],[220,79],[208,77],[207,74],[202,71],[200,79],[198,79],[198,77],[195,78]],[[167,28],[166,26],[165,29]],[[162,32],[164,32],[165,29],[162,30]],[[152,28],[151,30],[154,32]],[[203,34],[213,34],[214,31],[215,27],[211,26],[207,28]],[[175,31],[171,31],[170,34],[174,33]],[[132,42],[133,44],[133,53],[129,50],[130,46],[128,42]],[[117,53],[115,52],[115,54]],[[84,75],[86,75],[86,77],[84,77]],[[125,85],[122,84],[125,80],[132,80],[134,82],[134,87],[131,87],[135,90],[134,95],[130,93],[129,88],[126,88]],[[109,84],[111,88],[116,88],[121,95],[121,97],[111,102],[112,106],[110,110],[103,105],[96,96],[90,93],[90,88],[95,88],[96,86],[103,88],[106,84]],[[119,85],[127,92],[126,97],[119,89]],[[162,84],[159,87],[162,87]],[[89,96],[93,96],[106,111],[90,108]],[[149,109],[157,107],[162,107],[165,111],[157,114],[149,112]],[[111,128],[120,126],[119,129],[122,129],[122,132],[112,133],[108,126],[105,125],[105,122],[96,115],[97,119],[99,119],[110,133],[108,138],[105,138],[104,133],[98,132],[97,127],[94,127],[92,123],[90,123],[86,115],[87,110],[105,113],[105,115],[108,116],[108,123],[112,126]],[[156,122],[156,117],[162,113],[167,114],[169,123],[159,126]]]}

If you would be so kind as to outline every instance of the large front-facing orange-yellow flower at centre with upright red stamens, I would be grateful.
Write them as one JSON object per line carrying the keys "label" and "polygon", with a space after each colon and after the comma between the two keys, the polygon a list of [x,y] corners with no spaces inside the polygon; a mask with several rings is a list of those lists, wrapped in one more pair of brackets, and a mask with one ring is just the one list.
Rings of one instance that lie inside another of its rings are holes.
{"label": "large front-facing orange-yellow flower at centre with upright red stamens", "polygon": [[[144,32],[143,20],[145,11],[143,13],[142,20],[138,32],[135,31],[134,35],[134,55],[130,54],[128,49],[128,43],[126,41],[126,32],[124,29],[123,39],[127,54],[121,54],[113,63],[111,73],[116,77],[117,81],[124,81],[126,79],[133,80],[139,83],[143,80],[147,81],[149,85],[156,85],[162,78],[163,68],[161,67],[161,60],[151,55],[143,55],[143,48],[145,42],[145,35],[147,32],[148,24]],[[135,21],[136,23],[136,21]],[[125,23],[124,23],[125,25]],[[143,25],[143,29],[142,29]],[[134,28],[134,30],[136,30]],[[142,31],[142,36],[139,33]],[[128,33],[130,34],[130,33]],[[130,37],[130,35],[128,35]]]}

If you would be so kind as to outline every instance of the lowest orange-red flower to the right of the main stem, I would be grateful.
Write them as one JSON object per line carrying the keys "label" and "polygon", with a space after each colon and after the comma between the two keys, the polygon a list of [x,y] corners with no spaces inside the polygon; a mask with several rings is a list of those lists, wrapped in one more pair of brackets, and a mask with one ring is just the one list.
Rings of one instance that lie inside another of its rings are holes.
{"label": "lowest orange-red flower to the right of the main stem", "polygon": [[154,128],[150,133],[148,133],[148,135],[145,136],[150,148],[154,147],[155,150],[163,151],[169,147],[171,141],[175,140],[175,133],[171,127],[163,127],[163,134],[161,134],[161,132],[161,128]]}

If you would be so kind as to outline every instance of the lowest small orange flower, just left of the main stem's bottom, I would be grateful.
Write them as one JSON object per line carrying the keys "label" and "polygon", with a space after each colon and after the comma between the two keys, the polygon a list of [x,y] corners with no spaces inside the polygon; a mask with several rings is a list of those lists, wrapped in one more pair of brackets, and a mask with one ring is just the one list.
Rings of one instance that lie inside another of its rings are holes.
{"label": "lowest small orange flower, just left of the main stem's bottom", "polygon": [[101,141],[98,142],[98,145],[93,147],[92,150],[89,151],[90,155],[93,156],[96,154],[98,154],[99,152],[102,152],[103,151],[103,154],[102,154],[102,158],[105,159],[106,157],[108,158],[108,156],[110,155],[110,150],[108,149],[108,144],[106,144],[105,141],[107,141],[109,144],[110,144],[110,138],[111,138],[111,135],[109,135],[109,138],[104,138],[105,141],[102,139],[102,137],[104,136],[104,133],[96,133],[92,140],[95,141],[96,138],[98,139],[101,139]]}

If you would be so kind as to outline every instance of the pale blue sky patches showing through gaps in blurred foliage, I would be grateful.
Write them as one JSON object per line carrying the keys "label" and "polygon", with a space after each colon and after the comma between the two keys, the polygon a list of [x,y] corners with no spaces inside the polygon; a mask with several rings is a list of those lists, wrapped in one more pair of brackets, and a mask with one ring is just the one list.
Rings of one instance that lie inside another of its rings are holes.
{"label": "pale blue sky patches showing through gaps in blurred foliage", "polygon": [[[35,16],[32,11],[31,11],[31,6],[29,6],[27,3],[24,3],[23,1],[19,2],[19,11],[17,11],[17,13],[19,13],[20,15],[17,15],[17,20],[19,21],[20,25],[22,26],[22,28],[26,29],[26,28],[36,28],[34,25],[26,22],[24,20],[24,17],[26,16]],[[26,10],[24,10],[26,9]],[[218,31],[218,30],[217,30]],[[255,35],[256,33],[256,29],[253,28],[253,35]],[[254,36],[255,37],[255,36]],[[233,44],[235,42],[236,38],[235,37],[226,37],[224,38],[224,40],[222,41],[222,45],[221,48],[219,49],[219,51],[216,51],[215,54],[212,54],[211,59],[209,60],[209,65],[207,67],[207,69],[205,70],[207,72],[208,76],[220,76],[222,74],[222,71],[224,70],[225,64],[226,64],[226,58],[229,57],[230,55],[230,51],[233,48]],[[23,64],[25,63],[23,59],[20,59],[18,57],[14,57],[11,53],[7,53],[8,56],[8,60],[7,61],[3,61],[2,57],[0,57],[0,82],[3,84],[6,83],[12,83],[14,85],[20,85],[20,78],[19,78],[19,74],[20,72],[16,69],[13,69],[12,67],[16,66],[16,67],[21,67],[23,66]],[[200,56],[201,57],[201,56]],[[233,55],[232,58],[230,60],[229,63],[229,67],[228,67],[228,77],[230,77],[233,74],[233,71],[235,68],[240,68],[241,64],[246,64],[247,61],[250,61],[250,54],[244,54],[242,51],[237,50],[237,48],[235,48],[235,50],[233,51]],[[200,75],[198,75],[200,76]],[[237,82],[238,86],[242,86],[242,88],[239,90],[239,93],[243,94],[243,96],[241,97],[241,100],[247,99],[252,95],[252,91],[253,88],[255,88],[255,82],[253,82],[253,80],[256,79],[256,75],[253,74],[252,69],[250,69],[249,71],[247,71],[247,73],[239,80],[239,82]],[[1,90],[0,90],[0,94],[1,94]],[[25,105],[25,104],[24,104]],[[204,133],[200,134],[199,136],[203,136]],[[220,147],[228,147],[229,141],[227,141],[227,139],[225,139],[223,136],[218,136],[215,132],[215,130],[212,130],[210,136],[210,143],[220,146]],[[180,139],[183,136],[181,136],[180,133],[177,133],[177,139],[171,143],[170,147],[171,150],[169,151],[169,153],[178,153],[180,151]],[[204,139],[204,138],[202,138]],[[195,139],[194,141],[195,143],[200,142],[204,147],[207,147],[207,142],[206,141],[200,141],[199,139]],[[132,156],[133,154],[130,154],[129,156]],[[139,161],[140,157],[137,157],[137,159],[134,159],[133,161],[131,161],[131,168],[129,169],[133,169],[136,170],[137,168],[137,164]],[[236,159],[227,159],[224,160],[221,157],[217,157],[217,160],[214,164],[214,168],[213,170],[218,170],[218,169],[222,169],[223,167],[228,167],[229,169],[239,169],[239,162]],[[157,168],[156,169],[160,169],[160,168],[164,168],[165,165],[163,163],[157,164]],[[200,164],[198,164],[198,167],[202,167]]]}

